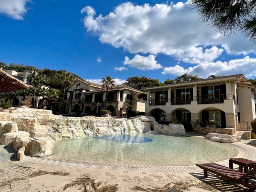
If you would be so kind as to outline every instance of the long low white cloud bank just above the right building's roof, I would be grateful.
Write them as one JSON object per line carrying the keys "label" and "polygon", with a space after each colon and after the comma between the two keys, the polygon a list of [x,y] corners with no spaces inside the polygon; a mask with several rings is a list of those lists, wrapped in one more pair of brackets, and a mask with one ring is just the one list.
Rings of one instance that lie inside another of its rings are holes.
{"label": "long low white cloud bank just above the right building's roof", "polygon": [[184,73],[196,74],[200,77],[207,77],[209,75],[234,75],[244,74],[247,77],[254,76],[256,74],[256,58],[250,58],[246,56],[242,59],[234,59],[228,62],[216,61],[216,62],[202,62],[194,67],[183,68],[176,65],[174,67],[165,67],[162,71],[162,75],[171,74],[180,76]]}

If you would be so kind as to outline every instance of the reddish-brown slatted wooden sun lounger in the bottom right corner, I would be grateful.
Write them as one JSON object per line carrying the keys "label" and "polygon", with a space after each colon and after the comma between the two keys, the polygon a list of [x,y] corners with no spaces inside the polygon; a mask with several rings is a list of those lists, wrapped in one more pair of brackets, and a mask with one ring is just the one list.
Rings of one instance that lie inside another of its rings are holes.
{"label": "reddish-brown slatted wooden sun lounger in the bottom right corner", "polygon": [[248,171],[247,173],[240,172],[234,169],[230,169],[223,165],[219,165],[216,163],[208,163],[208,164],[196,164],[196,166],[200,167],[204,170],[204,177],[208,177],[208,172],[221,176],[225,179],[233,181],[235,183],[244,185],[245,187],[249,188],[251,191],[256,190],[256,185],[252,185],[248,183],[249,178],[256,179],[256,167],[252,170]]}

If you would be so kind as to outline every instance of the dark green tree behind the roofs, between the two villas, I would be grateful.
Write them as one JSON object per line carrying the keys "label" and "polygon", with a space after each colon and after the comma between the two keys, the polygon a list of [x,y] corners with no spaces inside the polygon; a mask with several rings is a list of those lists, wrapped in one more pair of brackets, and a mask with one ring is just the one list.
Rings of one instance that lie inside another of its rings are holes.
{"label": "dark green tree behind the roofs, between the two villas", "polygon": [[151,86],[159,86],[159,85],[162,85],[161,82],[159,82],[158,79],[151,79],[151,78],[148,78],[146,76],[141,76],[141,77],[138,77],[138,76],[133,76],[133,77],[128,77],[126,79],[126,82],[123,83],[124,85],[127,85],[127,86],[130,86],[134,89],[137,89],[137,90],[142,90],[146,87],[151,87]]}

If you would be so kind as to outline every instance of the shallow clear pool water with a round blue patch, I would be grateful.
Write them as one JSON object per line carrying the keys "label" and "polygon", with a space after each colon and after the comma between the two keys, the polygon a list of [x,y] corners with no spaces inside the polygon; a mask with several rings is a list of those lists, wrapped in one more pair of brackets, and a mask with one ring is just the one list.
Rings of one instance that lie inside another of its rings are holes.
{"label": "shallow clear pool water with a round blue patch", "polygon": [[197,136],[137,133],[64,139],[55,142],[53,153],[47,158],[107,165],[192,165],[226,160],[238,150]]}

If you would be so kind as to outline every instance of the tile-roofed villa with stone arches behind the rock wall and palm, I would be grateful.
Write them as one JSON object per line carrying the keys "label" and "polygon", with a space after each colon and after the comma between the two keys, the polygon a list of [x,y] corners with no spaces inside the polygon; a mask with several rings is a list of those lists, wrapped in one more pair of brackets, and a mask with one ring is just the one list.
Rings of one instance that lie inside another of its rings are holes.
{"label": "tile-roofed villa with stone arches behind the rock wall and palm", "polygon": [[[125,101],[135,99],[138,100],[134,105],[135,109],[145,112],[145,102],[138,98],[140,93],[126,85],[112,86],[108,90],[107,110],[111,112],[112,116],[120,117],[127,113]],[[100,110],[105,109],[105,98],[106,89],[102,89],[101,85],[76,79],[66,89],[64,101],[60,103],[60,110],[65,110],[66,113],[68,111],[76,112],[78,115],[99,115]]]}

